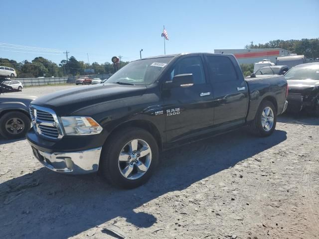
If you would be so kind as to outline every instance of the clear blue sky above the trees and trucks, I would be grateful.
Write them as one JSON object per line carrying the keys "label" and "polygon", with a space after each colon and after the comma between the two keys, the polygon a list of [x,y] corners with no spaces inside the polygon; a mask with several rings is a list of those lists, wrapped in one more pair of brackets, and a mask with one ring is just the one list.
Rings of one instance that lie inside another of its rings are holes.
{"label": "clear blue sky above the trees and trucks", "polygon": [[15,0],[5,8],[0,43],[12,45],[0,44],[0,58],[17,62],[59,63],[66,50],[84,62],[88,54],[90,63],[132,61],[141,49],[142,57],[162,55],[163,25],[166,54],[319,37],[319,0]]}

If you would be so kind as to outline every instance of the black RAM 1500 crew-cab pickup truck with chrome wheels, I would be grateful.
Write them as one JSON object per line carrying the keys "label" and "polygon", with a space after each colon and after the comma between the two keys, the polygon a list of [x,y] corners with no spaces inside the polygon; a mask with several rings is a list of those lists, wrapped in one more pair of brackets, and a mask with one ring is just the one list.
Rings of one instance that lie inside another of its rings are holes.
{"label": "black RAM 1500 crew-cab pickup truck with chrome wheels", "polygon": [[36,99],[27,139],[53,171],[100,171],[134,188],[153,174],[160,150],[243,125],[270,135],[286,97],[285,77],[245,80],[233,55],[158,56],[129,63],[104,84]]}

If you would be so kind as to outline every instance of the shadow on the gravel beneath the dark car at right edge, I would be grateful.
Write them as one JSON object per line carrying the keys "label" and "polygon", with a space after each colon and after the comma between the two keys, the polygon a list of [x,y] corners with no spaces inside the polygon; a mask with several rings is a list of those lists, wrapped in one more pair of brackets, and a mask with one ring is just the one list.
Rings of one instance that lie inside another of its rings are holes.
{"label": "shadow on the gravel beneath the dark car at right edge", "polygon": [[305,124],[305,125],[319,125],[319,118],[312,116],[305,112],[299,114],[285,113],[277,118],[281,123]]}

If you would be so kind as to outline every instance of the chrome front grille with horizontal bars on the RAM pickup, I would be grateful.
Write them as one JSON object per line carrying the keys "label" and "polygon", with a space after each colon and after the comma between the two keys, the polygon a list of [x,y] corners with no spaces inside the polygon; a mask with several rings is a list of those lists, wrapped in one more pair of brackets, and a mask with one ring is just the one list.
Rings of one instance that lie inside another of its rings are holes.
{"label": "chrome front grille with horizontal bars on the RAM pickup", "polygon": [[30,115],[33,129],[37,134],[53,139],[63,136],[59,119],[53,110],[30,105]]}

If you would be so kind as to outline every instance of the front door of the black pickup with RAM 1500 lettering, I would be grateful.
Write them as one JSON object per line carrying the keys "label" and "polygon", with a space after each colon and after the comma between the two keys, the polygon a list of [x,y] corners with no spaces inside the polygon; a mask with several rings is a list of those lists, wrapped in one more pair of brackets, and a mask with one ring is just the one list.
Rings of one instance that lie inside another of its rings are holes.
{"label": "front door of the black pickup with RAM 1500 lettering", "polygon": [[213,124],[213,94],[205,76],[202,55],[180,58],[167,78],[172,80],[175,75],[189,73],[193,74],[193,86],[176,87],[162,93],[167,143],[195,136]]}

